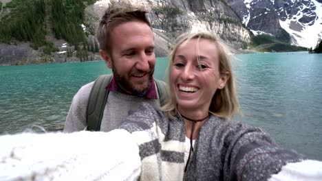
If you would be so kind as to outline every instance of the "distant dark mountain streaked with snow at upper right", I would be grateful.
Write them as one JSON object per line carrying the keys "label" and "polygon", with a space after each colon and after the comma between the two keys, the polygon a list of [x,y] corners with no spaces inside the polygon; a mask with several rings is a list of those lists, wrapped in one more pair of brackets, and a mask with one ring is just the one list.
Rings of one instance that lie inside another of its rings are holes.
{"label": "distant dark mountain streaked with snow at upper right", "polygon": [[253,34],[290,34],[290,43],[314,47],[322,36],[322,0],[227,0]]}

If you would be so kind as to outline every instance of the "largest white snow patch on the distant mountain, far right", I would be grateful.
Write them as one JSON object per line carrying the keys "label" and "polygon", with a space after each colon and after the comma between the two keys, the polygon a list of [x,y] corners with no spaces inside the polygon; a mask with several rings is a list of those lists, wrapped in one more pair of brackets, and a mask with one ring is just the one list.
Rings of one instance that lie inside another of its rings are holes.
{"label": "largest white snow patch on the distant mountain, far right", "polygon": [[[293,29],[290,29],[290,19],[286,19],[286,21],[279,20],[279,25],[281,25],[281,27],[285,29],[286,32],[288,32],[295,40],[297,40],[298,45],[308,48],[314,48],[317,40],[322,36],[322,4],[316,0],[312,0],[312,2],[314,5],[316,5],[315,13],[319,18],[316,19],[314,25],[308,26],[298,22],[299,25],[302,25],[304,28],[301,30],[301,32],[297,32]],[[298,21],[302,16],[303,13],[301,12],[297,14],[297,16],[294,16],[296,19],[292,21]]]}

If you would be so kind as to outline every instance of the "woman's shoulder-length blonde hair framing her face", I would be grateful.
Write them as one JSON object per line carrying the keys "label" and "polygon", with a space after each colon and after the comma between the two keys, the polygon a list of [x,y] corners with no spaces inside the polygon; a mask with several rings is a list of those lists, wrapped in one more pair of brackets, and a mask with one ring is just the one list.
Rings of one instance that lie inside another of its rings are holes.
{"label": "woman's shoulder-length blonde hair framing her face", "polygon": [[[233,71],[230,65],[230,57],[228,55],[228,47],[220,40],[217,36],[211,34],[210,32],[197,32],[197,33],[188,33],[182,34],[179,36],[175,42],[175,47],[173,47],[170,53],[169,59],[169,67],[167,69],[168,75],[168,95],[169,99],[164,106],[162,106],[162,110],[167,113],[169,118],[173,118],[178,114],[177,110],[177,101],[175,99],[175,95],[173,91],[171,91],[170,84],[170,75],[171,69],[173,67],[173,60],[175,58],[175,53],[178,50],[178,47],[182,45],[182,43],[186,43],[191,39],[206,39],[210,40],[214,46],[217,47],[218,56],[219,56],[219,73],[223,75],[224,73],[229,73],[229,78],[226,82],[226,85],[222,89],[217,89],[215,95],[211,100],[211,105],[209,107],[209,112],[215,114],[217,117],[222,117],[224,119],[231,119],[233,115],[239,112],[239,101],[237,97],[237,91],[235,88],[235,80],[233,76]],[[214,52],[215,53],[215,52]],[[215,84],[215,82],[214,82]]]}

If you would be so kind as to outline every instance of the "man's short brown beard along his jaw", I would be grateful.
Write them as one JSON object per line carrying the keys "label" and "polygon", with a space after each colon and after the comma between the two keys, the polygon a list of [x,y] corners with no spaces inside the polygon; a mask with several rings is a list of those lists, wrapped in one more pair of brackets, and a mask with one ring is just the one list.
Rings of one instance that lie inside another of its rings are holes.
{"label": "man's short brown beard along his jaw", "polygon": [[[147,89],[150,88],[154,69],[152,69],[148,73],[149,80],[148,80],[148,84],[145,88],[138,88],[135,85],[131,84],[130,80],[127,80],[127,78],[125,76],[122,76],[120,73],[118,73],[118,70],[116,69],[116,67],[114,67],[114,64],[112,64],[112,71],[113,71],[114,79],[116,80],[116,84],[121,86],[122,89],[125,89],[125,90],[131,92],[133,95],[138,95],[138,94],[144,93],[144,91],[146,91]],[[138,71],[138,73],[141,73],[141,72],[142,71]],[[130,75],[131,74],[133,74],[133,73],[130,73]]]}

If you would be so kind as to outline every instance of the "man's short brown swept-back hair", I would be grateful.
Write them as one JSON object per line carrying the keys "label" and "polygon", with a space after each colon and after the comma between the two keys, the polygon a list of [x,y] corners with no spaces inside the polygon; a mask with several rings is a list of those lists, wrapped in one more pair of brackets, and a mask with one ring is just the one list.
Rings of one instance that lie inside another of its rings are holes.
{"label": "man's short brown swept-back hair", "polygon": [[105,14],[103,15],[100,23],[98,25],[98,29],[96,32],[96,36],[98,39],[98,43],[100,43],[100,49],[111,51],[111,32],[113,29],[120,25],[121,23],[127,23],[131,21],[138,21],[147,23],[149,27],[151,27],[149,19],[147,19],[147,11],[141,8],[135,8],[128,3],[111,3],[109,4],[109,8],[105,10]]}

